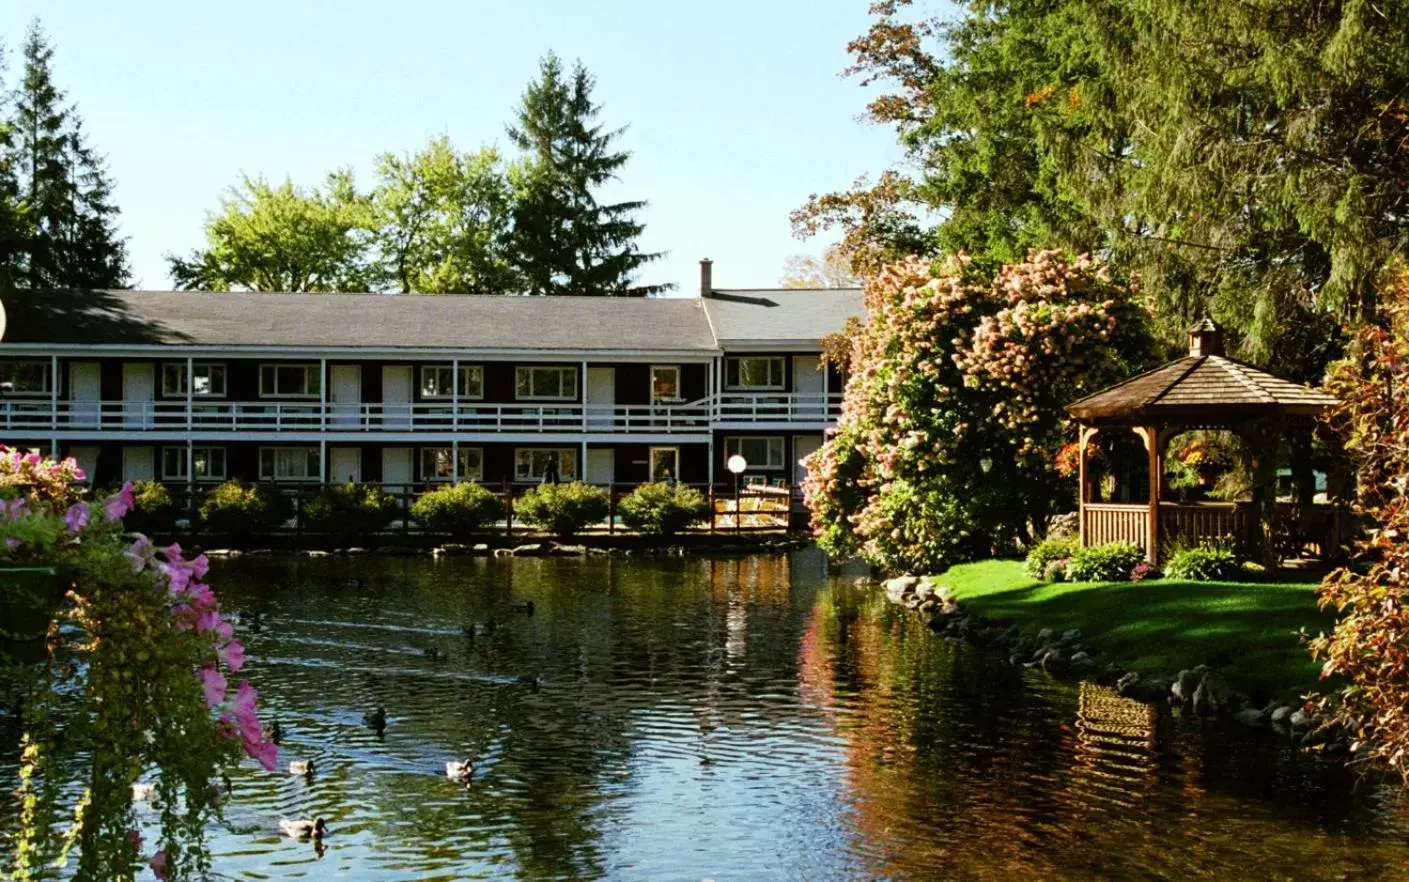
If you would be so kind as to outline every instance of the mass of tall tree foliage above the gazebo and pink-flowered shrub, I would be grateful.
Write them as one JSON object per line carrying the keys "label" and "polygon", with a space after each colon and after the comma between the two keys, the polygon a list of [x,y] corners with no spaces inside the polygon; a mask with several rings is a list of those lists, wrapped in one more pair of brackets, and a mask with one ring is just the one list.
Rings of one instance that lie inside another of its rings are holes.
{"label": "mass of tall tree foliage above the gazebo and pink-flowered shrub", "polygon": [[1361,0],[872,14],[848,72],[883,86],[868,116],[917,173],[812,197],[800,235],[989,266],[1099,251],[1143,279],[1171,337],[1212,306],[1246,356],[1301,380],[1336,358],[1329,313],[1361,313],[1409,245],[1409,15]]}

